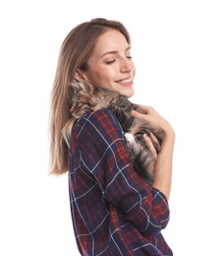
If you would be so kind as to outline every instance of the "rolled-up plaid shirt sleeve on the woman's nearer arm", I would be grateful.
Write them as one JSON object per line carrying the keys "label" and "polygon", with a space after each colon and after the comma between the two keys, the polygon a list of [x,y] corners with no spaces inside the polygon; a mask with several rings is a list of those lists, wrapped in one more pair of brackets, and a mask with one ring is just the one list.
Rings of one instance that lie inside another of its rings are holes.
{"label": "rolled-up plaid shirt sleeve on the woman's nearer arm", "polygon": [[169,222],[167,199],[135,171],[115,116],[100,109],[83,117],[79,125],[82,168],[96,180],[104,199],[120,208],[140,232],[158,234]]}

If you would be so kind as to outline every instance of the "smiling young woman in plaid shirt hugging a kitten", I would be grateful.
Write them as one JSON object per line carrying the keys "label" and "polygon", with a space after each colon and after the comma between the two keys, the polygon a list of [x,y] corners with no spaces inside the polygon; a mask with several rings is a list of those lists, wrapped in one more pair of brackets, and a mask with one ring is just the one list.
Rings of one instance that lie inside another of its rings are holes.
{"label": "smiling young woman in plaid shirt hugging a kitten", "polygon": [[[170,218],[174,130],[152,107],[132,112],[165,134],[158,155],[143,136],[156,158],[152,183],[131,164],[115,115],[105,107],[92,111],[89,102],[80,107],[93,87],[133,96],[135,74],[129,32],[117,21],[80,24],[62,44],[51,95],[50,173],[68,171],[81,255],[173,255],[161,230]],[[100,96],[94,100],[100,104]]]}

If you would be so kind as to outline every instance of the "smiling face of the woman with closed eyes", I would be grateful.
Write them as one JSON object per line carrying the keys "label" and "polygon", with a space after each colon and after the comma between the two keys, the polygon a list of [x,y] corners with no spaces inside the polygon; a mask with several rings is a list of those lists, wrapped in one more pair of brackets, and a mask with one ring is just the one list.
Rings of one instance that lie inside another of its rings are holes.
{"label": "smiling face of the woman with closed eyes", "polygon": [[121,32],[109,30],[100,35],[87,63],[88,70],[82,74],[89,84],[128,97],[134,95],[136,67],[130,45]]}

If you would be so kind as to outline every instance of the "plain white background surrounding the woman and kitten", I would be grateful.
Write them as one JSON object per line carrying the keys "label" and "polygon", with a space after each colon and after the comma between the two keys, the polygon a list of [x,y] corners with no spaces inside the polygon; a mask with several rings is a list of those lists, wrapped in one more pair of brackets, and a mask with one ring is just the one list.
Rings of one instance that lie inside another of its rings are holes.
{"label": "plain white background surrounding the woman and kitten", "polygon": [[167,242],[175,256],[224,255],[222,3],[1,1],[0,255],[79,255],[67,175],[47,175],[48,100],[64,37],[96,17],[131,32],[133,100],[176,131]]}

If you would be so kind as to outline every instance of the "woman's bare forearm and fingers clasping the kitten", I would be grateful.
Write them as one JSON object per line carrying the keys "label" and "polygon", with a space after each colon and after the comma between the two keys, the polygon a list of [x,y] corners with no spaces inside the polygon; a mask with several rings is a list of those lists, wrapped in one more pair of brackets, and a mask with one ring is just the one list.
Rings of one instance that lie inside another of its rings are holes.
{"label": "woman's bare forearm and fingers clasping the kitten", "polygon": [[145,111],[145,114],[133,110],[132,115],[134,117],[143,118],[155,128],[162,129],[164,131],[164,139],[158,155],[156,154],[151,139],[146,135],[144,135],[143,138],[153,155],[157,158],[154,166],[155,177],[153,187],[163,192],[167,199],[169,199],[171,191],[175,132],[166,119],[164,119],[153,107],[145,105],[140,105],[140,107]]}

